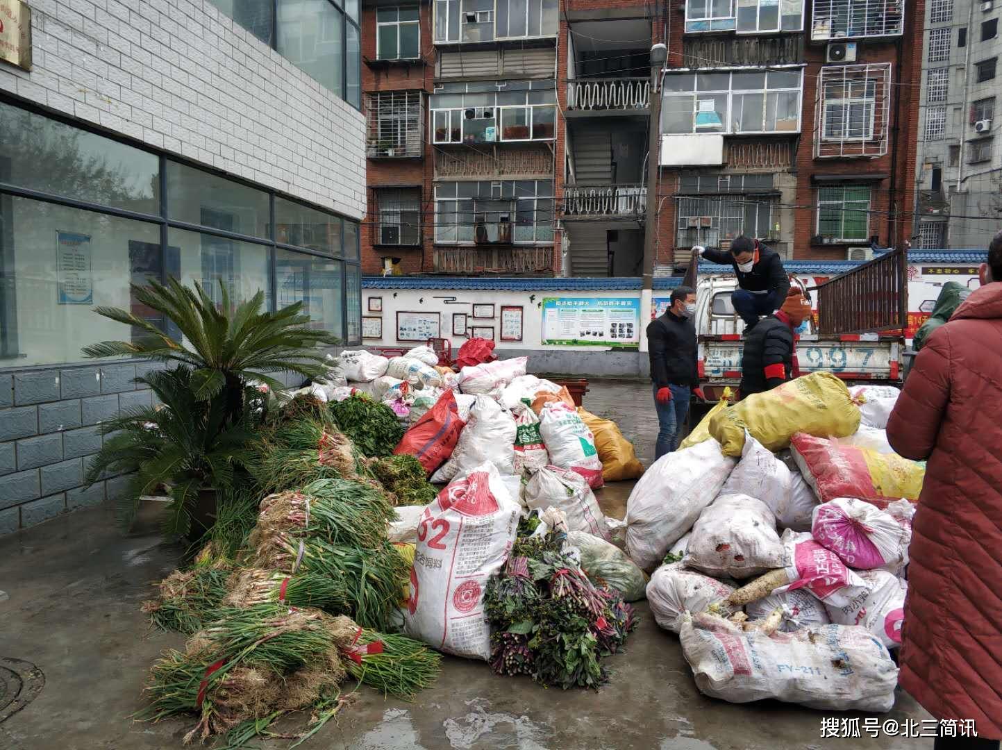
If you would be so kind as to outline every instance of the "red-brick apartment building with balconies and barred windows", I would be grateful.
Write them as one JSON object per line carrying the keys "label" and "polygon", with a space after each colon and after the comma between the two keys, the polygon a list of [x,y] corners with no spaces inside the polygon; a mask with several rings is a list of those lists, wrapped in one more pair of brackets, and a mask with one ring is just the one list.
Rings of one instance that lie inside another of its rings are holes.
{"label": "red-brick apartment building with balconies and barred windows", "polygon": [[[826,260],[911,237],[921,0],[393,7],[363,8],[367,272],[638,276],[653,232],[668,275],[740,234]],[[380,114],[405,101],[407,127]]]}

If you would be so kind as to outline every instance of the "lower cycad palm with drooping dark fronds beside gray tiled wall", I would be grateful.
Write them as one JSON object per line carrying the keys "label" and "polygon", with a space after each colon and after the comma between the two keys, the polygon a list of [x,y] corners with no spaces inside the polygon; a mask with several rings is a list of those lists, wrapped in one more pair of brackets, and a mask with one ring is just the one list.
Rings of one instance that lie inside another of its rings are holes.
{"label": "lower cycad palm with drooping dark fronds beside gray tiled wall", "polygon": [[[131,474],[128,492],[117,507],[118,521],[125,527],[135,517],[140,495],[165,484],[171,501],[164,532],[188,533],[199,490],[231,488],[248,457],[256,420],[245,415],[228,422],[221,394],[197,398],[192,379],[186,367],[138,378],[163,405],[131,409],[101,424],[101,433],[110,437],[91,459],[86,481],[97,481],[105,471]],[[245,398],[254,398],[256,391],[245,390]]]}

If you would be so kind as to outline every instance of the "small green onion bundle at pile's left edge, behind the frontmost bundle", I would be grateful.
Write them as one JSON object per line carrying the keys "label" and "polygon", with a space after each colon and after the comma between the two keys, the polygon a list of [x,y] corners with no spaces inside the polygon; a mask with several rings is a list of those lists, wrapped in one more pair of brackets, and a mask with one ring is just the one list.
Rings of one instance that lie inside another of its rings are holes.
{"label": "small green onion bundle at pile's left edge, behind the frontmost bundle", "polygon": [[142,611],[160,630],[194,633],[214,618],[228,578],[228,569],[208,565],[174,571],[159,583],[157,598],[144,602]]}

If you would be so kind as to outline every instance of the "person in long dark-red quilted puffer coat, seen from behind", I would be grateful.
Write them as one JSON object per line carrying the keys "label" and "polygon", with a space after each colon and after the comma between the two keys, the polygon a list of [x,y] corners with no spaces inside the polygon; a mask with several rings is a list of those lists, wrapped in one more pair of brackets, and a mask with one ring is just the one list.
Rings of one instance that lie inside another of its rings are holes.
{"label": "person in long dark-red quilted puffer coat, seen from behind", "polygon": [[1002,232],[982,287],[928,339],[891,413],[901,455],[928,459],[915,513],[900,683],[937,719],[1002,738]]}

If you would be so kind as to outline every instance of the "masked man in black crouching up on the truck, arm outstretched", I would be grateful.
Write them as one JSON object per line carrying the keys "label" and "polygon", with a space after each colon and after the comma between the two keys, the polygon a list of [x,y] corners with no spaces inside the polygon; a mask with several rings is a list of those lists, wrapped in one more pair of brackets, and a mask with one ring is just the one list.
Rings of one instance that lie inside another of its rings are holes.
{"label": "masked man in black crouching up on the truck, arm outstretched", "polygon": [[727,252],[698,245],[692,250],[707,261],[733,267],[739,289],[734,290],[730,302],[734,312],[744,321],[745,330],[754,326],[760,316],[779,310],[787,299],[790,278],[783,261],[758,240],[741,235],[730,243]]}

